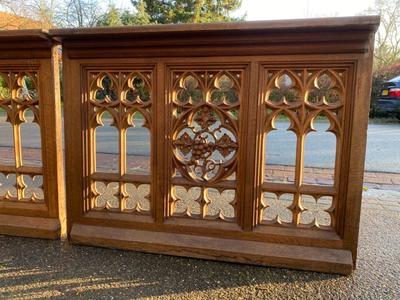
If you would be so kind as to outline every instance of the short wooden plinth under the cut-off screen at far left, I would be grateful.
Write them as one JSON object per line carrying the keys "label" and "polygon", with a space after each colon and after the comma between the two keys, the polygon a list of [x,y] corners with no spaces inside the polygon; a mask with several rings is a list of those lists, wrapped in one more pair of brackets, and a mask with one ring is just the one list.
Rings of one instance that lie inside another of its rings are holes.
{"label": "short wooden plinth under the cut-off screen at far left", "polygon": [[0,214],[0,234],[57,239],[60,222],[54,218],[36,218]]}

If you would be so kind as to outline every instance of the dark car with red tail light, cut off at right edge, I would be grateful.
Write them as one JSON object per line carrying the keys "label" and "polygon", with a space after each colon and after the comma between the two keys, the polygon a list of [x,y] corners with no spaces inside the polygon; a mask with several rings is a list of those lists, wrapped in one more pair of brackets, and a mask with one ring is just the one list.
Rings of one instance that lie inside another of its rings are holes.
{"label": "dark car with red tail light, cut off at right edge", "polygon": [[400,76],[383,83],[378,110],[400,119]]}

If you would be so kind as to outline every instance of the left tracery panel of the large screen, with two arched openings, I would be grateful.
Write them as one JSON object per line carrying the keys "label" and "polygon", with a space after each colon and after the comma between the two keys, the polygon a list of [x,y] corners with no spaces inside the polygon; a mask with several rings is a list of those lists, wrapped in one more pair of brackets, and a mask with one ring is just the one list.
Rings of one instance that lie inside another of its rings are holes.
{"label": "left tracery panel of the large screen, with two arched openings", "polygon": [[[87,76],[90,209],[150,214],[151,149],[146,156],[130,150],[143,131],[151,134],[152,71],[89,71]],[[139,134],[129,133],[136,128]]]}

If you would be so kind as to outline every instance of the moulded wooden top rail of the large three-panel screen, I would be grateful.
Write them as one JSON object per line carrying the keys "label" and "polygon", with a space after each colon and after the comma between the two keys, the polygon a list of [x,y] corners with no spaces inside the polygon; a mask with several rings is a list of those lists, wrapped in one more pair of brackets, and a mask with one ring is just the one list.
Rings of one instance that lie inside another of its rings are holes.
{"label": "moulded wooden top rail of the large three-panel screen", "polygon": [[[379,17],[367,16],[49,32],[71,49],[70,58],[326,54],[367,52],[378,24]],[[91,51],[95,48],[104,51]]]}

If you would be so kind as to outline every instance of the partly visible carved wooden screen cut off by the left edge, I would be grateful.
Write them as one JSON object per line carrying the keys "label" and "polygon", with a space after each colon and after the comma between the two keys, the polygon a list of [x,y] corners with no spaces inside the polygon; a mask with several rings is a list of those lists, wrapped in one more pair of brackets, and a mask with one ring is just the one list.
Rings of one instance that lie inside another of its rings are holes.
{"label": "partly visible carved wooden screen cut off by the left edge", "polygon": [[57,51],[40,30],[0,32],[0,234],[60,234],[64,179]]}

